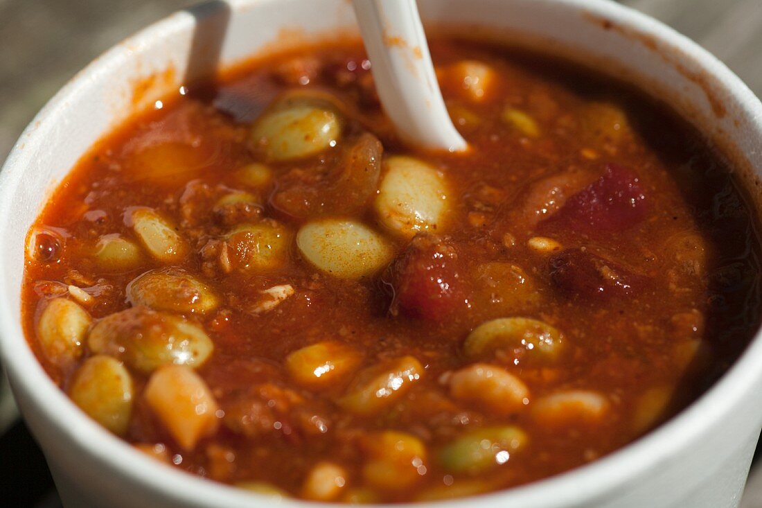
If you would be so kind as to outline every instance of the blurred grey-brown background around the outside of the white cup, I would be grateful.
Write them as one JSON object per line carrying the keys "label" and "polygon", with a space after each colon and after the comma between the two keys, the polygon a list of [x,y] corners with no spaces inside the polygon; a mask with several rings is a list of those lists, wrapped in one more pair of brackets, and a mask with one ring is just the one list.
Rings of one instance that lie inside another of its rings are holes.
{"label": "blurred grey-brown background around the outside of the white cup", "polygon": [[[189,0],[0,0],[0,161],[43,104],[114,43]],[[762,0],[620,0],[700,43],[762,96]],[[0,428],[2,434],[2,428]],[[757,459],[762,453],[757,450]],[[741,508],[762,508],[762,460]],[[0,436],[0,506],[59,508],[23,423]],[[690,507],[686,507],[690,508]]]}

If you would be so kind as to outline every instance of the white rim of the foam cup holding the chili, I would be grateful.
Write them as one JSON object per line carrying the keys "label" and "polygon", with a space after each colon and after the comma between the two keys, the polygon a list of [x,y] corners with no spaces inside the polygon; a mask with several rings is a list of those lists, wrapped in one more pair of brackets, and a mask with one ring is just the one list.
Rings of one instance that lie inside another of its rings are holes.
{"label": "white rim of the foam cup holding the chili", "polygon": [[[233,11],[254,4],[277,2],[278,0],[226,0]],[[748,115],[754,118],[754,125],[762,132],[762,104],[753,92],[741,82],[738,76],[725,64],[698,46],[692,40],[650,18],[645,14],[610,0],[546,0],[567,5],[578,11],[600,15],[602,18],[627,27],[636,34],[647,35],[676,47],[683,53],[684,59],[693,60],[700,68],[715,76],[728,93],[743,104]],[[162,35],[187,30],[194,24],[194,19],[212,15],[215,10],[210,5],[223,2],[209,2],[197,5],[185,11],[171,14],[168,18],[149,25],[142,31],[117,44],[79,72],[34,117],[15,143],[5,165],[0,171],[0,217],[8,217],[11,203],[21,179],[24,178],[25,159],[40,149],[40,140],[46,129],[50,128],[50,118],[61,114],[66,108],[66,99],[75,95],[89,79],[88,76],[121,65],[132,58],[126,48],[146,48],[162,38]],[[191,14],[192,13],[192,14]],[[2,228],[0,224],[0,237]],[[0,250],[0,265],[4,254]],[[5,271],[0,271],[0,287],[5,286]],[[79,453],[90,455],[101,465],[123,475],[126,484],[138,484],[150,492],[161,492],[174,501],[187,506],[251,506],[259,501],[267,506],[270,499],[246,493],[226,484],[220,484],[206,478],[196,477],[184,471],[167,468],[117,436],[110,434],[97,423],[85,416],[82,411],[66,397],[43,370],[34,352],[30,349],[21,330],[21,323],[16,323],[5,294],[0,292],[0,355],[11,378],[11,385],[16,393],[30,404],[34,404],[45,416],[47,423],[54,426],[60,435],[75,444]],[[719,378],[708,391],[703,393],[693,404],[668,420],[657,429],[631,442],[629,445],[598,458],[588,465],[582,465],[562,474],[534,481],[519,487],[499,490],[479,497],[466,497],[459,500],[442,501],[437,506],[466,508],[466,506],[490,506],[492,503],[514,503],[515,506],[577,506],[579,503],[603,497],[628,479],[637,477],[648,469],[658,467],[669,461],[672,455],[695,442],[700,434],[715,426],[733,408],[739,400],[748,397],[754,383],[760,378],[757,365],[762,362],[762,333],[757,331],[741,356],[731,368]],[[25,404],[23,404],[25,405]],[[549,494],[552,498],[549,500]],[[282,500],[280,506],[304,508],[308,504],[300,500]],[[309,506],[328,506],[333,503],[313,503]],[[396,506],[413,506],[404,503]],[[336,506],[336,505],[333,505]]]}

